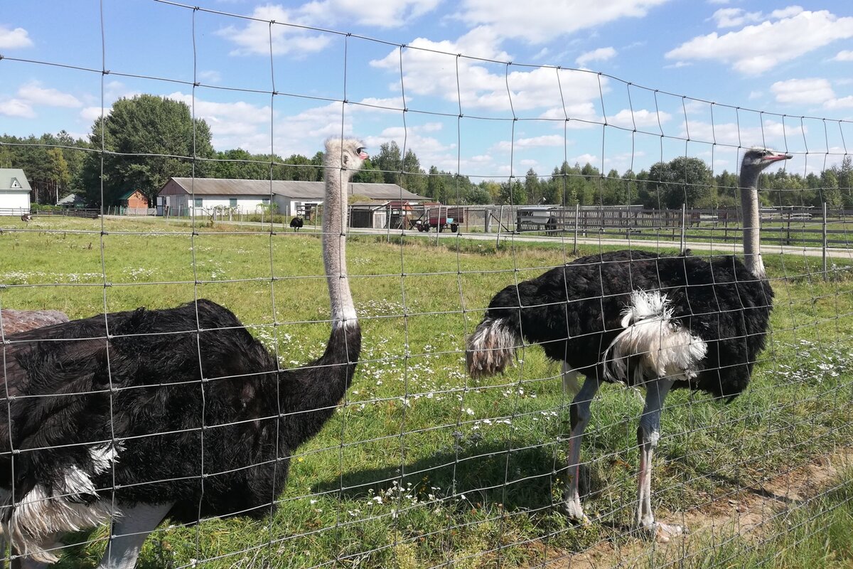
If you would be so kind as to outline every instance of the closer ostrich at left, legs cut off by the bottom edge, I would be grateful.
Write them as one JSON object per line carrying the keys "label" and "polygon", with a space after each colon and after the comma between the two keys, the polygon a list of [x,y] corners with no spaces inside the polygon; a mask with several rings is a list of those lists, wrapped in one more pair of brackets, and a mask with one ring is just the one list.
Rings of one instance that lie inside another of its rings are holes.
{"label": "closer ostrich at left, legs cut off by the bottom edge", "polygon": [[279,369],[231,311],[205,299],[6,339],[3,528],[28,556],[24,566],[55,561],[63,533],[107,520],[100,567],[130,569],[166,516],[189,524],[273,511],[293,450],[334,413],[356,368],[345,192],[365,158],[355,140],[326,142],[332,331],[325,353],[305,367]]}

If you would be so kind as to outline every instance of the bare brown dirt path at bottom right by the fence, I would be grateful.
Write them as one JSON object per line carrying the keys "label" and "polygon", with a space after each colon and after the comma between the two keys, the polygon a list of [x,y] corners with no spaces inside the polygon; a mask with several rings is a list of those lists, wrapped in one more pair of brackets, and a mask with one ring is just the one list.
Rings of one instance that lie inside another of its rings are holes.
{"label": "bare brown dirt path at bottom right by the fence", "polygon": [[714,536],[723,538],[735,532],[743,537],[761,539],[766,531],[772,529],[778,514],[826,491],[833,479],[837,479],[839,471],[850,465],[853,465],[853,448],[845,448],[792,468],[760,485],[714,499],[696,510],[669,515],[660,512],[659,520],[683,524],[690,529],[688,536],[672,539],[670,543],[647,543],[636,539],[616,546],[611,542],[601,542],[579,554],[543,547],[540,554],[543,561],[529,567],[610,569],[678,566],[677,560],[683,552],[690,551],[690,544],[699,540],[707,541]]}

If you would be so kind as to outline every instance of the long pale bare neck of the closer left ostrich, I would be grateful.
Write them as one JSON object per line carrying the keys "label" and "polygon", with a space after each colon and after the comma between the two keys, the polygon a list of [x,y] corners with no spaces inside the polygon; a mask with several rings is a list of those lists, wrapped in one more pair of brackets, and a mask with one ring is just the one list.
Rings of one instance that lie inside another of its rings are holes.
{"label": "long pale bare neck of the closer left ostrich", "polygon": [[[334,154],[334,153],[328,153]],[[322,216],[322,251],[326,265],[328,295],[332,301],[332,328],[357,323],[352,303],[350,280],[346,275],[346,194],[349,170],[341,170],[339,155],[328,155],[326,163],[326,202]]]}

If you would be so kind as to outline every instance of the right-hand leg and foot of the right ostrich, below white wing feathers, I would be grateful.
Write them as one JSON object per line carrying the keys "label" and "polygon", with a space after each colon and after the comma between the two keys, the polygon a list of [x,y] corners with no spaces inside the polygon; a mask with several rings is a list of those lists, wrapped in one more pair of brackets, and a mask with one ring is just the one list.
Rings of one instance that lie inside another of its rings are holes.
{"label": "right-hand leg and foot of the right ostrich, below white wing feathers", "polygon": [[640,445],[640,473],[637,478],[637,517],[636,525],[648,531],[660,542],[670,541],[670,537],[685,532],[681,525],[667,525],[654,520],[652,511],[652,457],[660,439],[660,410],[664,407],[664,398],[670,392],[674,380],[658,378],[646,383],[646,404],[637,428],[637,443]]}

